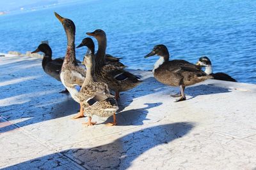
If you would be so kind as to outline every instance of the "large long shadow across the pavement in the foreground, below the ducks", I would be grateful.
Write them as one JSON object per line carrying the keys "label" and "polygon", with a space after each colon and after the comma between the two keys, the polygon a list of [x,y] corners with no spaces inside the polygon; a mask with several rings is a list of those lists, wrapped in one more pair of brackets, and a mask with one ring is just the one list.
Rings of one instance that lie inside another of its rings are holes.
{"label": "large long shadow across the pavement in the foreground, below the ducks", "polygon": [[[170,146],[172,141],[182,138],[193,127],[194,125],[191,122],[156,125],[131,132],[115,139],[111,143],[95,146],[95,141],[92,141],[91,143],[86,143],[84,148],[80,146],[80,148],[64,150],[61,152],[62,156],[58,153],[52,153],[51,155],[38,157],[4,169],[28,169],[28,167],[30,169],[49,169],[49,167],[65,169],[67,164],[70,165],[72,163],[70,160],[67,163],[67,157],[86,169],[127,169],[138,157],[141,159],[143,153],[148,152],[148,150],[155,152],[155,147],[161,149],[163,156],[170,153],[164,145]],[[98,139],[97,143],[106,143],[105,141],[108,139],[105,138],[111,138],[111,136]],[[88,145],[92,147],[88,148]],[[157,153],[159,154],[160,152],[158,151]],[[143,157],[143,162],[150,164],[150,161],[148,157]]]}

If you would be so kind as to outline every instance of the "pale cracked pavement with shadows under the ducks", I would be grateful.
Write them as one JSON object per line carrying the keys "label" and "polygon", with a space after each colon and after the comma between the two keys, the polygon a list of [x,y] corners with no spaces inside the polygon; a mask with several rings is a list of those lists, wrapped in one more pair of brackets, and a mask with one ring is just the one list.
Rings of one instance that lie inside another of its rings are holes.
{"label": "pale cracked pavement with shadows under the ducks", "polygon": [[132,72],[144,82],[122,93],[118,125],[84,127],[40,59],[0,57],[0,168],[256,168],[256,85],[207,80],[174,103],[178,88]]}

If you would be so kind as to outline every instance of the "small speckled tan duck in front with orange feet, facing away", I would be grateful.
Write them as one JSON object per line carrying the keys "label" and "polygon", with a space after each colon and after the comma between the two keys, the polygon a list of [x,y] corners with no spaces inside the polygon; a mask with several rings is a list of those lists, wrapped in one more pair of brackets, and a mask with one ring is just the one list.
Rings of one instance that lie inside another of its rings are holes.
{"label": "small speckled tan duck in front with orange feet, facing away", "polygon": [[83,105],[83,110],[88,115],[86,125],[94,125],[92,116],[111,117],[113,122],[107,125],[116,125],[116,111],[118,106],[114,96],[109,92],[106,83],[96,81],[94,78],[94,43],[91,38],[84,39],[84,45],[88,47],[88,52],[84,56],[84,65],[86,66],[86,78],[79,92],[79,99]]}

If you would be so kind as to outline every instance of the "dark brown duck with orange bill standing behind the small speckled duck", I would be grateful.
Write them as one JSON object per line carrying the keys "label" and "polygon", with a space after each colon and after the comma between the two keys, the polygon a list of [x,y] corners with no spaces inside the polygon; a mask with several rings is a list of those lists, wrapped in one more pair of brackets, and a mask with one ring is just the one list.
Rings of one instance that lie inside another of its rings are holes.
{"label": "dark brown duck with orange bill standing behind the small speckled duck", "polygon": [[103,81],[108,84],[109,89],[115,91],[115,99],[120,98],[120,92],[130,90],[142,81],[120,67],[106,64],[106,33],[102,29],[93,32],[86,32],[87,35],[93,36],[98,41],[98,51],[95,54],[95,78],[97,81]]}

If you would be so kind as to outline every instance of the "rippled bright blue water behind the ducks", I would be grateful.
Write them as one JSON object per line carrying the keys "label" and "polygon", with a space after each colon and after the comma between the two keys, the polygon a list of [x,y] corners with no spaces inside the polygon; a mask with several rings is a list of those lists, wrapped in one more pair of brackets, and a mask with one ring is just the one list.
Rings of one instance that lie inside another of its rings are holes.
{"label": "rippled bright blue water behind the ducks", "polygon": [[[171,59],[212,60],[214,72],[256,83],[256,2],[99,0],[0,16],[0,52],[35,50],[49,40],[54,57],[65,55],[67,39],[54,11],[76,24],[76,45],[85,32],[103,29],[107,52],[133,69],[152,69],[144,59],[154,45],[168,46]],[[77,50],[82,59],[86,49]]]}

